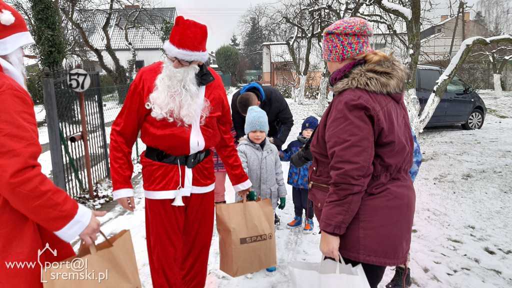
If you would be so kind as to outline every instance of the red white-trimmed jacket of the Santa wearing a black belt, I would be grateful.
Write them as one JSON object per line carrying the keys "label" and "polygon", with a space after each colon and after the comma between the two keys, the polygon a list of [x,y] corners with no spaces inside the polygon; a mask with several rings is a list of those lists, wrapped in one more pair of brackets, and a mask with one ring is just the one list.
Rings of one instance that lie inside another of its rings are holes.
{"label": "red white-trimmed jacket of the Santa wearing a black belt", "polygon": [[[133,173],[132,148],[140,131],[142,141],[175,156],[190,155],[205,148],[215,147],[221,156],[235,191],[251,186],[245,174],[231,136],[231,113],[226,91],[220,76],[208,68],[214,81],[201,86],[200,93],[208,99],[209,114],[204,124],[185,127],[166,119],[157,120],[145,108],[148,97],[155,88],[155,80],[162,71],[162,62],[142,68],[130,86],[123,108],[112,124],[110,162],[114,199],[133,196],[130,182]],[[214,190],[214,162],[211,154],[196,167],[166,164],[153,161],[141,154],[142,177],[145,197],[173,199],[190,193]]]}

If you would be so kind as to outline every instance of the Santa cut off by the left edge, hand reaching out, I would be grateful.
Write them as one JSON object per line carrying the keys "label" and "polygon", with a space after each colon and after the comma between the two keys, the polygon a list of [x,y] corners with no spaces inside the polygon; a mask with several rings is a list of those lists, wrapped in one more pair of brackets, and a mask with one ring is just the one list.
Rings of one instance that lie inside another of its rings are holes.
{"label": "Santa cut off by the left edge, hand reaching out", "polygon": [[[25,84],[22,47],[34,44],[23,17],[0,0],[0,287],[42,287],[38,263],[74,255],[77,236],[97,239],[97,216],[41,173],[34,104]],[[56,250],[41,257],[38,251]],[[35,263],[24,268],[16,263]],[[14,266],[13,266],[14,264]]]}

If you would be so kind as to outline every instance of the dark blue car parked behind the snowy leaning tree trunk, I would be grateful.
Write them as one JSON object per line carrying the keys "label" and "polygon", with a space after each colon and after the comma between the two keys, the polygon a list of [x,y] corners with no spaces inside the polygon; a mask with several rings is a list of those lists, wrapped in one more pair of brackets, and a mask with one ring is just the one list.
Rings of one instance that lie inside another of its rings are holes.
{"label": "dark blue car parked behind the snowy leaning tree trunk", "polygon": [[[418,65],[416,96],[421,106],[420,113],[443,71],[444,69],[434,65]],[[487,108],[482,98],[462,79],[455,76],[426,127],[461,124],[466,130],[480,129],[486,114]]]}

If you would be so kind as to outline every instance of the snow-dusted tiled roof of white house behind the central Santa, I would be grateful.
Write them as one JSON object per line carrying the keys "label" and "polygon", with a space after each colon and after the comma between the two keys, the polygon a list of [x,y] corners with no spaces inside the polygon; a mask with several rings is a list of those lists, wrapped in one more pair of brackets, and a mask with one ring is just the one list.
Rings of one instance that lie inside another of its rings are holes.
{"label": "snow-dusted tiled roof of white house behind the central Santa", "polygon": [[[105,49],[106,45],[101,28],[107,16],[108,13],[100,9],[80,10],[75,14],[75,20],[82,25],[89,41],[100,50]],[[175,18],[174,7],[114,9],[108,27],[112,48],[129,49],[126,45],[124,27],[130,27],[126,29],[128,39],[135,49],[161,49],[164,19],[174,23]]]}

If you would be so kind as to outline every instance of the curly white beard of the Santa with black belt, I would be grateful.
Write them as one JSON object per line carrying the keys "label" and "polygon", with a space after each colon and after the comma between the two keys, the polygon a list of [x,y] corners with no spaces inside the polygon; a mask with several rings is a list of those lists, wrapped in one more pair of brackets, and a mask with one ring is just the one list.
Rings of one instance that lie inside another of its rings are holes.
{"label": "curly white beard of the Santa with black belt", "polygon": [[[162,73],[157,76],[155,90],[145,107],[152,110],[151,116],[157,120],[176,121],[178,126],[188,127],[201,116],[201,124],[204,124],[204,118],[209,112],[209,102],[204,98],[200,103],[199,86],[196,81],[199,67],[190,65],[176,69],[173,61],[165,55],[162,58]],[[201,110],[198,109],[199,106],[202,107]],[[198,115],[199,113],[201,115]]]}

